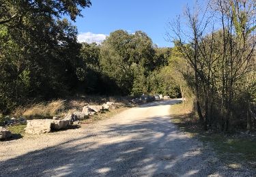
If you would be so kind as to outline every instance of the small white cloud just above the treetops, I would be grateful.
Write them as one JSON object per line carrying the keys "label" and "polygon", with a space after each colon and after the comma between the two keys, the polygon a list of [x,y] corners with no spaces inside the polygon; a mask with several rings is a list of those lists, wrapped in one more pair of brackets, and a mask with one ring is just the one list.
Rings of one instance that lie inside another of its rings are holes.
{"label": "small white cloud just above the treetops", "polygon": [[89,44],[96,42],[97,44],[101,44],[104,39],[106,39],[107,35],[104,34],[94,34],[91,32],[87,32],[87,33],[80,33],[77,36],[77,39],[79,42],[87,42]]}

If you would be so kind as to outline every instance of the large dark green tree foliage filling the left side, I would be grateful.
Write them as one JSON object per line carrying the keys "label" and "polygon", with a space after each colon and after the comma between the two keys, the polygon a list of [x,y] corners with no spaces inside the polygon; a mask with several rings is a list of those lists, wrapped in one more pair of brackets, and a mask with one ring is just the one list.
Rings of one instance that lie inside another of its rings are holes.
{"label": "large dark green tree foliage filling the left side", "polygon": [[1,1],[0,112],[27,99],[50,99],[76,84],[80,44],[72,20],[90,1]]}

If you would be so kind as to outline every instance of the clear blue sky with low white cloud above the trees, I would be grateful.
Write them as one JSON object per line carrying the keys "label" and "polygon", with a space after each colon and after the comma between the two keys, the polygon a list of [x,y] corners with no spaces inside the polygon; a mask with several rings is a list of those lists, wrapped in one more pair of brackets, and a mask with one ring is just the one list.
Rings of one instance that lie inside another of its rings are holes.
{"label": "clear blue sky with low white cloud above the trees", "polygon": [[91,0],[91,7],[76,18],[79,42],[100,44],[109,33],[124,29],[128,33],[141,30],[158,47],[171,47],[166,41],[167,22],[183,14],[193,0]]}

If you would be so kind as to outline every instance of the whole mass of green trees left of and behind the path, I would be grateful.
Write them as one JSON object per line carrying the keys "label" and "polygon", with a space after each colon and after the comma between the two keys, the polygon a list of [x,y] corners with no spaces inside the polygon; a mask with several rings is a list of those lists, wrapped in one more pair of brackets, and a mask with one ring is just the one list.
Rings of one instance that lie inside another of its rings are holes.
{"label": "whole mass of green trees left of and behind the path", "polygon": [[[177,97],[179,87],[162,71],[171,48],[154,47],[143,31],[114,31],[101,46],[77,42],[76,27],[63,16],[75,20],[90,5],[89,0],[1,2],[1,114],[29,100],[73,93]],[[155,75],[158,84],[152,88]]]}

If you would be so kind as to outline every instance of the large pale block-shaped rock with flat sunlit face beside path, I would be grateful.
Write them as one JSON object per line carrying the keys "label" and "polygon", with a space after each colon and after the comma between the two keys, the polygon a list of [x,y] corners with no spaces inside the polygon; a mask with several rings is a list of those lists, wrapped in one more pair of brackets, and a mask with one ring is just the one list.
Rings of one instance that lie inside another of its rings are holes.
{"label": "large pale block-shaped rock with flat sunlit face beside path", "polygon": [[29,134],[42,134],[51,131],[52,119],[27,120],[25,132]]}

